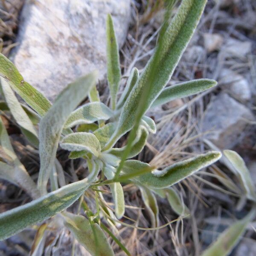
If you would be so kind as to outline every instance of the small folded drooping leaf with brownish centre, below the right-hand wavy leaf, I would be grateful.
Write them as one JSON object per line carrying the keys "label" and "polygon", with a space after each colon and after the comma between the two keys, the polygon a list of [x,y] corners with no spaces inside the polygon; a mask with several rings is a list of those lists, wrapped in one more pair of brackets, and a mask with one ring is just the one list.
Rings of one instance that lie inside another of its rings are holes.
{"label": "small folded drooping leaf with brownish centre, below the right-hand wavy leaf", "polygon": [[157,227],[159,225],[159,209],[157,199],[154,194],[146,187],[140,186],[140,192],[143,198],[146,209],[148,210],[151,226]]}

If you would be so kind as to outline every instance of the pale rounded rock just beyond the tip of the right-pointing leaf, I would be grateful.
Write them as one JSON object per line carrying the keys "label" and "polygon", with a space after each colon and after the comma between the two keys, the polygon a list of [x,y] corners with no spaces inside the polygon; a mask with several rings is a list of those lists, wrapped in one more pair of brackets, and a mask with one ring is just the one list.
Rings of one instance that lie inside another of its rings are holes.
{"label": "pale rounded rock just beyond the tip of the right-pointing leaf", "polygon": [[223,69],[219,78],[219,84],[223,84],[222,89],[229,91],[236,99],[241,101],[251,99],[250,85],[247,79],[240,74],[237,74],[233,70]]}

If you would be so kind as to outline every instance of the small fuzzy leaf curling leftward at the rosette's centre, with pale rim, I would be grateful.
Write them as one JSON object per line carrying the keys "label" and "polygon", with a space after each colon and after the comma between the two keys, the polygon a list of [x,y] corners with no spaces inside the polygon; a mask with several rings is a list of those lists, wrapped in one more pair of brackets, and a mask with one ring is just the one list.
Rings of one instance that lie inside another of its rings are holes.
{"label": "small fuzzy leaf curling leftward at the rosette's centre, with pale rim", "polygon": [[85,150],[96,157],[101,151],[99,140],[96,136],[89,132],[76,132],[65,136],[60,142],[61,148],[69,151]]}

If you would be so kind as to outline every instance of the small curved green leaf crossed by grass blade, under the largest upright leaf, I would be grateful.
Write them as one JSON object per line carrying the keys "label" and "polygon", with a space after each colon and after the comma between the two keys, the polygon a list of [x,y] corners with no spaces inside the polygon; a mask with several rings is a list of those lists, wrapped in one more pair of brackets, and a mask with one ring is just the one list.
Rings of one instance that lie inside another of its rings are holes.
{"label": "small curved green leaf crossed by grass blade, under the largest upright leaf", "polygon": [[[148,138],[148,131],[146,130],[146,128],[141,126],[141,128],[139,129],[139,133],[137,134],[137,137],[138,139],[135,140],[135,143],[132,145],[130,153],[128,154],[127,158],[135,157],[143,150]],[[125,148],[126,146],[122,148],[112,148],[109,152],[115,155],[116,157],[122,157]]]}

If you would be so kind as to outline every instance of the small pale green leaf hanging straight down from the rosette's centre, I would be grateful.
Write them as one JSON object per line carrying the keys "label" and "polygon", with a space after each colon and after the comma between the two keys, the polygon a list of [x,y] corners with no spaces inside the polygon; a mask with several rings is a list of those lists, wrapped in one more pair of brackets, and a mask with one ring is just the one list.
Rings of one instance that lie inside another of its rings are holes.
{"label": "small pale green leaf hanging straight down from the rosette's centre", "polygon": [[[113,179],[114,177],[115,168],[112,166],[105,166],[104,167],[104,175],[107,177],[108,180]],[[116,218],[120,219],[125,213],[125,197],[122,186],[119,182],[115,182],[109,184],[111,189],[111,193],[113,196],[113,201],[115,204],[115,215]]]}

